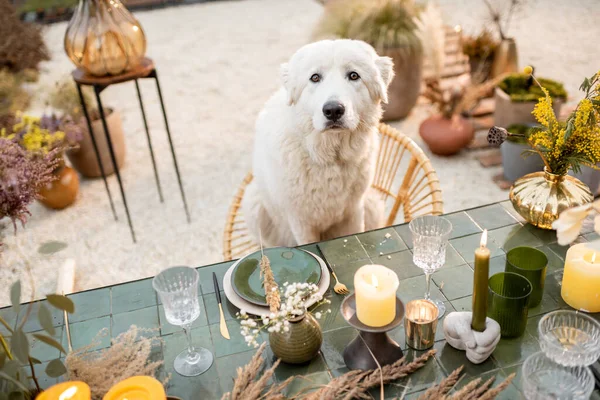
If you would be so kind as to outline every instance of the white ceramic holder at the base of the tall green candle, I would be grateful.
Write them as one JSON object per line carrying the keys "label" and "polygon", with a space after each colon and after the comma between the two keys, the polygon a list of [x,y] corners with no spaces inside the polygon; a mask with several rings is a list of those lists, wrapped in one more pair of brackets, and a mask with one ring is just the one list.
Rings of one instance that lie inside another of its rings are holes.
{"label": "white ceramic holder at the base of the tall green candle", "polygon": [[485,319],[485,330],[471,329],[472,312],[451,312],[444,319],[446,342],[457,350],[465,350],[473,364],[487,360],[500,341],[500,325],[491,318]]}

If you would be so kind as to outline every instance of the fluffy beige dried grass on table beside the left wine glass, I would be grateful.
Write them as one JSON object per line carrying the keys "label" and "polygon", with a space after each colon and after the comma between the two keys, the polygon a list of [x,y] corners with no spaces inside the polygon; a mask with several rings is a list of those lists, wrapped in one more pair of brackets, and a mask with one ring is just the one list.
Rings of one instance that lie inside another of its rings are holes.
{"label": "fluffy beige dried grass on table beside the left wine glass", "polygon": [[[163,361],[152,361],[150,358],[153,346],[160,344],[161,339],[140,336],[149,331],[152,330],[132,325],[127,332],[112,340],[111,347],[93,351],[99,338],[108,334],[103,329],[91,344],[67,355],[65,365],[68,379],[87,383],[92,391],[92,399],[100,400],[113,385],[124,379],[140,375],[155,376]],[[165,380],[163,384],[166,383]]]}

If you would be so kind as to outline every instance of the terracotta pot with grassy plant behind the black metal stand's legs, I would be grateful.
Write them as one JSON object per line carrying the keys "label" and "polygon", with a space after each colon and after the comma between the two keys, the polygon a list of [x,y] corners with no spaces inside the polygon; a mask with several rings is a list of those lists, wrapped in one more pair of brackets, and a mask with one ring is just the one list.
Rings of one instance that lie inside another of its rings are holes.
{"label": "terracotta pot with grassy plant behind the black metal stand's legs", "polygon": [[[115,169],[110,157],[106,135],[104,134],[104,127],[102,126],[102,120],[100,119],[100,113],[95,107],[92,107],[93,101],[89,88],[82,88],[82,90],[88,114],[91,119],[92,134],[94,135],[94,139],[98,146],[104,173],[108,176],[113,174]],[[57,112],[62,113],[63,116],[69,116],[73,122],[83,129],[84,134],[81,136],[79,146],[67,151],[67,157],[73,168],[81,175],[88,178],[102,176],[100,166],[96,159],[92,138],[88,133],[87,123],[79,100],[79,94],[77,93],[77,87],[73,81],[71,79],[65,79],[57,82],[55,87],[48,94],[47,102],[50,107]],[[125,164],[125,136],[123,134],[121,115],[114,108],[110,107],[106,107],[104,113],[110,140],[115,151],[117,165],[119,169],[121,169]]]}

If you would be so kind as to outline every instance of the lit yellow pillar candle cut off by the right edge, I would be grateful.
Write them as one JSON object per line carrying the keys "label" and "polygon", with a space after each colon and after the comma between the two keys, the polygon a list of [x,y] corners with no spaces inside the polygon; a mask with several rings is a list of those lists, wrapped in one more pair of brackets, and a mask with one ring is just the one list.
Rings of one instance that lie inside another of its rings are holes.
{"label": "lit yellow pillar candle cut off by the right edge", "polygon": [[577,310],[600,312],[600,251],[586,243],[576,244],[567,251],[560,294]]}

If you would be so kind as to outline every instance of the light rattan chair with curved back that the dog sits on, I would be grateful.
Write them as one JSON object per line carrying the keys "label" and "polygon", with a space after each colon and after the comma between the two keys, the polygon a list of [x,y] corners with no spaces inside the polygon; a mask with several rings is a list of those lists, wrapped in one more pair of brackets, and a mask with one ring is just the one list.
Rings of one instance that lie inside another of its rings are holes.
{"label": "light rattan chair with curved back that the dog sits on", "polygon": [[[431,162],[412,139],[386,124],[379,125],[381,146],[373,188],[386,203],[386,226],[408,222],[419,215],[443,212],[442,191]],[[232,260],[258,250],[251,239],[240,207],[244,192],[252,182],[248,173],[229,208],[223,235],[223,256]]]}

